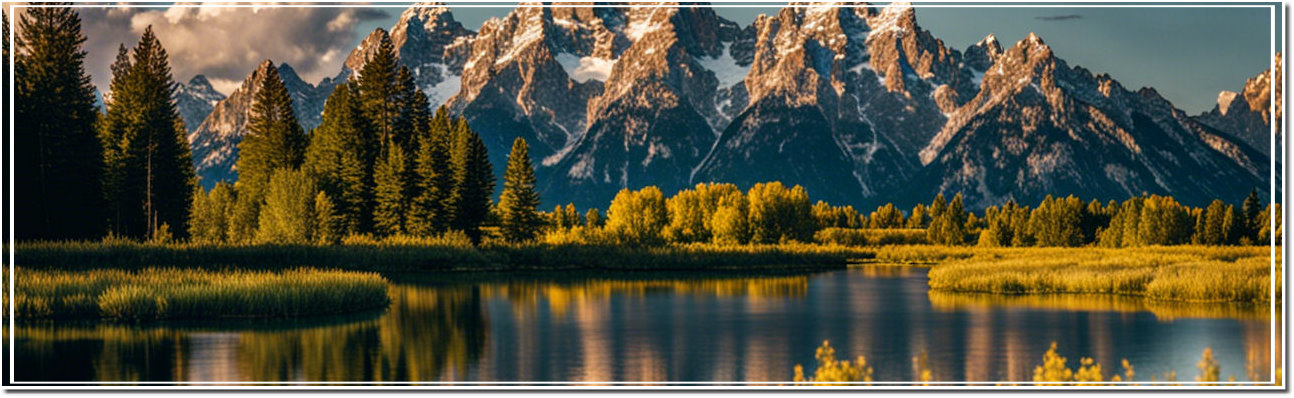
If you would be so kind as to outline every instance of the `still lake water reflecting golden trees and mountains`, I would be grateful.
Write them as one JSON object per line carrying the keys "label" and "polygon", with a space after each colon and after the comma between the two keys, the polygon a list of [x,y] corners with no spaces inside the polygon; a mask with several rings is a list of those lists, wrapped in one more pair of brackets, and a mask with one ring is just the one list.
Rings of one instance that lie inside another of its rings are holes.
{"label": "still lake water reflecting golden trees and mountains", "polygon": [[[600,274],[471,282],[392,277],[380,314],[241,323],[18,323],[18,381],[788,381],[829,340],[875,380],[1027,381],[1052,341],[1136,380],[1268,380],[1266,306],[927,289],[925,269]],[[1278,336],[1275,341],[1278,344]],[[1278,358],[1277,358],[1278,359]]]}

